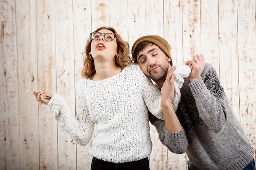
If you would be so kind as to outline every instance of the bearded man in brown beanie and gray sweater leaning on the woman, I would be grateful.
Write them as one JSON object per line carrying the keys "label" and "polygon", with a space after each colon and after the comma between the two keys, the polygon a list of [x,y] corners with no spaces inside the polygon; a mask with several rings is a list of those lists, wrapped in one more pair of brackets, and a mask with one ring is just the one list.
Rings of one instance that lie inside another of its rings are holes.
{"label": "bearded man in brown beanie and gray sweater leaning on the woman", "polygon": [[[166,83],[166,75],[172,74],[170,46],[159,36],[139,38],[132,46],[132,57],[159,89]],[[255,170],[254,147],[236,119],[215,69],[204,62],[202,54],[186,64],[190,65],[191,74],[180,89],[176,114],[162,103],[165,122],[150,115],[159,139],[177,153],[171,140],[175,131],[168,130],[170,119],[177,115],[188,140],[189,170]],[[175,140],[180,143],[176,145],[182,145],[182,141]]]}

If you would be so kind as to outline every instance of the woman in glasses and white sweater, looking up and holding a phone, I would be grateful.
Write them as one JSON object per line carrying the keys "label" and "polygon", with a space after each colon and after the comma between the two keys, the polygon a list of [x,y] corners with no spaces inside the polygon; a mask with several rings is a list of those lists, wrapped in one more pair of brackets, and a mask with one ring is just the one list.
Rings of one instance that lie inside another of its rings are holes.
{"label": "woman in glasses and white sweater, looking up and holding a phone", "polygon": [[163,120],[160,91],[132,63],[128,42],[111,27],[91,33],[84,54],[76,117],[61,95],[46,99],[45,93],[40,97],[34,92],[34,96],[48,105],[58,124],[81,146],[88,144],[96,124],[89,149],[92,170],[117,166],[148,170],[152,149],[148,110]]}

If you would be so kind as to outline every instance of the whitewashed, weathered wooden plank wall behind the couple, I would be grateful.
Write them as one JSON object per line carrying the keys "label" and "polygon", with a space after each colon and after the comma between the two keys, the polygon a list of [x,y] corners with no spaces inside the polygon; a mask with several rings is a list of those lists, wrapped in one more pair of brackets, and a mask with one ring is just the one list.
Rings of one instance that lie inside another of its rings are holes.
{"label": "whitewashed, weathered wooden plank wall behind the couple", "polygon": [[[256,0],[0,0],[0,169],[88,170],[92,156],[26,90],[60,93],[75,114],[81,53],[113,26],[132,44],[160,35],[173,63],[203,53],[256,148]],[[150,126],[151,170],[186,170]]]}

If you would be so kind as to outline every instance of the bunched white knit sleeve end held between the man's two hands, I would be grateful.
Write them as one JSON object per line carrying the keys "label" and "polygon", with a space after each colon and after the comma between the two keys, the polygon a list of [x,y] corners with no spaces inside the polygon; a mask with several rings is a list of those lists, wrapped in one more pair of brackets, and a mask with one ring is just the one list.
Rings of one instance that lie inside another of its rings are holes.
{"label": "bunched white knit sleeve end held between the man's two hands", "polygon": [[180,102],[180,98],[181,98],[180,89],[183,86],[184,78],[189,77],[190,73],[191,73],[191,69],[186,64],[182,63],[176,66],[176,69],[174,71],[175,79],[173,82],[175,92],[174,92],[173,101],[172,101],[173,109],[175,111],[177,110]]}

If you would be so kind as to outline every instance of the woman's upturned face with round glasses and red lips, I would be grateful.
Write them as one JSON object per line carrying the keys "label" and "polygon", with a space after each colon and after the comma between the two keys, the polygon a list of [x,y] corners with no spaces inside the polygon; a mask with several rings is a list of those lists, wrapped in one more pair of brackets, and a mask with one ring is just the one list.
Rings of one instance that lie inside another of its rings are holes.
{"label": "woman's upturned face with round glasses and red lips", "polygon": [[[105,36],[106,33],[112,33],[112,31],[108,29],[101,29],[98,31],[101,34],[97,34],[95,38],[99,38],[98,40],[92,40],[91,42],[91,51],[90,54],[92,55],[94,61],[97,60],[97,58],[101,59],[115,59],[115,56],[118,55],[117,53],[117,39],[114,38],[112,41],[107,41],[111,40],[112,37],[109,37],[108,35]],[[104,38],[107,39],[105,39]]]}

